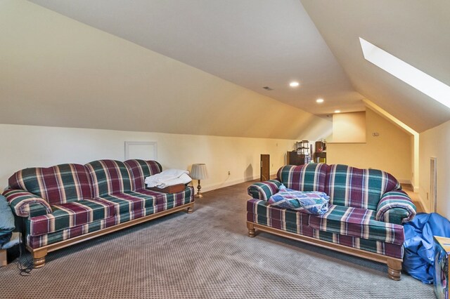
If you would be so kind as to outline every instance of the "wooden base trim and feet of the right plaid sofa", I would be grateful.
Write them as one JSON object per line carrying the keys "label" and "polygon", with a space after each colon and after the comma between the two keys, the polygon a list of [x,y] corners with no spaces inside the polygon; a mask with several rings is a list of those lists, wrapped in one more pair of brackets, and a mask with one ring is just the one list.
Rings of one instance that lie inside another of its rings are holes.
{"label": "wooden base trim and feet of the right plaid sofa", "polygon": [[378,263],[387,264],[387,276],[390,279],[400,280],[401,279],[401,263],[403,260],[399,258],[392,258],[387,255],[382,255],[379,253],[373,253],[370,251],[364,251],[358,248],[352,248],[349,246],[344,246],[341,244],[335,244],[328,241],[323,241],[321,239],[314,239],[311,237],[303,236],[301,234],[295,234],[293,232],[285,232],[284,230],[278,230],[274,227],[268,227],[266,225],[260,225],[255,222],[247,221],[248,236],[255,237],[255,229],[262,232],[269,232],[270,234],[276,234],[277,236],[302,241],[307,244],[312,244],[315,246],[320,246],[323,248],[331,249],[334,251],[339,251],[342,253],[347,253],[350,255],[357,256],[359,258],[366,258],[368,260],[374,260]]}

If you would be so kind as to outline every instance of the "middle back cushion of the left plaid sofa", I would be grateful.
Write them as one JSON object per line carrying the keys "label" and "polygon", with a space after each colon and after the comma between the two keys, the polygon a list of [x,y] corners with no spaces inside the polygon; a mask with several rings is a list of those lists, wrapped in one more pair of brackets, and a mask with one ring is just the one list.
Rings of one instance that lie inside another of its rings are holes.
{"label": "middle back cushion of the left plaid sofa", "polygon": [[124,162],[97,160],[85,166],[91,175],[94,197],[131,191],[131,178]]}

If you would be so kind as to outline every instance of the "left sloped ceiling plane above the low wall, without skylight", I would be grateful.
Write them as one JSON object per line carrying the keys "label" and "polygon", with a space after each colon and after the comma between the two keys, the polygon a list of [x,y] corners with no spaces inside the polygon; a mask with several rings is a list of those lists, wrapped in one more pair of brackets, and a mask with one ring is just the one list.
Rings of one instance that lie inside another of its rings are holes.
{"label": "left sloped ceiling plane above the low wall, without skylight", "polygon": [[331,130],[326,119],[27,1],[0,1],[0,20],[3,124],[300,140]]}

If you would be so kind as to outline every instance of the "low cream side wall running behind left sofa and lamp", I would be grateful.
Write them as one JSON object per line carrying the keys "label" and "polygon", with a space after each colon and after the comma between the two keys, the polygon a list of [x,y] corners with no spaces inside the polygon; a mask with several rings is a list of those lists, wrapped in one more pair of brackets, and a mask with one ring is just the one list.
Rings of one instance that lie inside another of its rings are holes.
{"label": "low cream side wall running behind left sofa and lamp", "polygon": [[156,141],[163,169],[207,164],[210,178],[202,181],[207,191],[259,178],[260,154],[270,154],[271,173],[276,173],[296,141],[10,124],[0,124],[0,139],[1,190],[9,176],[22,168],[86,164],[96,159],[124,161],[125,141]]}

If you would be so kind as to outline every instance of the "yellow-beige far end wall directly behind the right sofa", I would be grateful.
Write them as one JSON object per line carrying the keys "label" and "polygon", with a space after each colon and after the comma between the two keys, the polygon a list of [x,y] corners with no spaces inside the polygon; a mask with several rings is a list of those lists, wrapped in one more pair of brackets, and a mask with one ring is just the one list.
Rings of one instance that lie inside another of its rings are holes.
{"label": "yellow-beige far end wall directly behind the right sofa", "polygon": [[[378,137],[372,133],[378,132]],[[328,143],[327,164],[378,168],[411,182],[411,135],[366,109],[366,143]]]}

